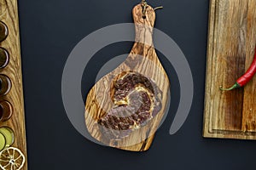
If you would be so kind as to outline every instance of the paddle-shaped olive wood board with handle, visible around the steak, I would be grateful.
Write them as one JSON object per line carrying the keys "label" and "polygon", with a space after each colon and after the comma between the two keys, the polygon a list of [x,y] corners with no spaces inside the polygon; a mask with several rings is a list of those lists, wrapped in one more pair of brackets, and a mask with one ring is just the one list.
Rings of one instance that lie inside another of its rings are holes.
{"label": "paddle-shaped olive wood board with handle, visible around the steak", "polygon": [[[85,104],[85,123],[91,136],[108,146],[119,148],[121,150],[144,151],[148,150],[153,139],[154,133],[160,124],[166,111],[168,99],[168,90],[170,87],[166,71],[160,64],[160,60],[154,50],[153,45],[153,27],[155,20],[154,9],[148,6],[146,10],[146,19],[143,19],[143,8],[138,4],[132,11],[135,22],[136,38],[131,54],[125,59],[125,62],[119,65],[114,71],[103,77],[90,90]],[[162,91],[162,109],[152,121],[146,126],[132,132],[128,137],[122,140],[108,141],[102,136],[99,130],[97,120],[113,107],[113,82],[122,76],[124,72],[135,71],[145,77],[150,77],[158,88]]]}

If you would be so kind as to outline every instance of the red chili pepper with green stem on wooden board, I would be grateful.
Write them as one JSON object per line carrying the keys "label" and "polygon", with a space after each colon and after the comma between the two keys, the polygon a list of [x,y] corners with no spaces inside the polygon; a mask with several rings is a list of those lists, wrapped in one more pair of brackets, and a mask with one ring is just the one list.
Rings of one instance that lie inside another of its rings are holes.
{"label": "red chili pepper with green stem on wooden board", "polygon": [[250,82],[250,80],[253,79],[253,76],[255,75],[255,73],[256,73],[256,48],[255,48],[253,63],[250,66],[250,68],[247,70],[247,72],[242,77],[240,77],[231,88],[220,88],[220,89],[225,91],[230,91],[235,88],[241,88],[245,86],[247,82]]}

